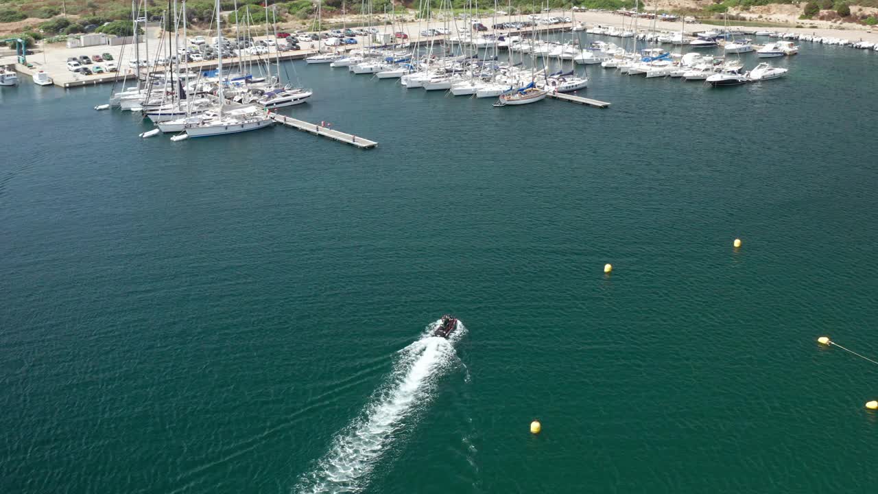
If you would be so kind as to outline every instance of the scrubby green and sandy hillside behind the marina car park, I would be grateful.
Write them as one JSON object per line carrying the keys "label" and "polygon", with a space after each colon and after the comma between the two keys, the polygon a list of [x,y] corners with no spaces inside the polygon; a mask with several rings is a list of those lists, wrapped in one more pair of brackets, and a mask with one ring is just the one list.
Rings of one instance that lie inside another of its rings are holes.
{"label": "scrubby green and sandy hillside behind the marina car park", "polygon": [[[228,16],[234,16],[237,4],[241,16],[249,8],[252,22],[264,22],[261,6],[265,0],[221,0],[220,6]],[[431,0],[434,9],[440,0]],[[149,17],[161,18],[167,9],[167,0],[147,0]],[[268,0],[277,7],[278,21],[284,26],[304,26],[316,12],[317,0],[276,1]],[[362,2],[350,0],[323,0],[324,18],[341,14],[342,8],[351,15],[359,14]],[[464,11],[471,0],[451,0],[451,5]],[[753,20],[778,22],[783,24],[808,23],[827,26],[843,22],[875,25],[878,24],[878,0],[855,0],[846,4],[845,0],[817,0],[816,3],[770,2],[769,0],[646,0],[640,5],[645,9],[658,8],[659,11],[675,12],[699,18],[722,18],[728,15],[731,20]],[[483,2],[484,4],[490,4]],[[504,2],[505,4],[505,2]],[[532,0],[512,2],[522,13],[534,11]],[[558,9],[569,8],[565,0],[550,0],[549,4]],[[616,10],[631,8],[634,0],[574,0],[574,4],[591,9]],[[420,5],[420,0],[372,0],[372,11],[384,13],[407,10],[411,16]],[[536,9],[538,10],[538,8]],[[212,0],[189,0],[187,18],[193,29],[206,28],[212,20]],[[33,38],[83,33],[96,29],[104,23],[119,21],[110,28],[101,28],[107,33],[124,34],[125,22],[131,18],[131,3],[126,0],[0,0],[0,34],[29,33]]]}

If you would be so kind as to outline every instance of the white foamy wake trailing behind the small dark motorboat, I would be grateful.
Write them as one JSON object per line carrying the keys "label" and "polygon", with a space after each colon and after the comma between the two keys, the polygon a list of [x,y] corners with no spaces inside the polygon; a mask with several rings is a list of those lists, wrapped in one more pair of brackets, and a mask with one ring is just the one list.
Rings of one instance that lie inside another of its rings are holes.
{"label": "white foamy wake trailing behind the small dark motorboat", "polygon": [[454,344],[466,328],[457,322],[450,339],[434,337],[439,321],[413,344],[399,351],[387,383],[378,389],[363,413],[333,440],[317,469],[304,476],[293,492],[338,493],[363,490],[375,463],[392,443],[393,432],[416,406],[428,403],[436,378],[456,360]]}

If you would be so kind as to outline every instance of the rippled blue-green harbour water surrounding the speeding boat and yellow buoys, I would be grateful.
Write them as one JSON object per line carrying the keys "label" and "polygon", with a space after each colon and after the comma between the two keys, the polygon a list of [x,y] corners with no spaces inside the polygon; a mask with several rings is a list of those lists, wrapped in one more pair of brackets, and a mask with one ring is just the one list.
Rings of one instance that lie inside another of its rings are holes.
{"label": "rippled blue-green harbour water surrounding the speeding boat and yellow buoys", "polygon": [[878,57],[776,63],[608,110],[297,63],[371,151],[3,88],[0,491],[873,489],[878,369],[815,340],[878,355]]}

